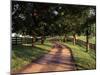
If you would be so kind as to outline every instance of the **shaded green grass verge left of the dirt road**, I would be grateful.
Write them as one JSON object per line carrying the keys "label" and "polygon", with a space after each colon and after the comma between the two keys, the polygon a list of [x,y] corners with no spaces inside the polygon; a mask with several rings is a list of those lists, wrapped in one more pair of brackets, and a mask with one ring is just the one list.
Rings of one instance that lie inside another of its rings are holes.
{"label": "shaded green grass verge left of the dirt road", "polygon": [[36,43],[34,47],[21,45],[12,46],[12,72],[16,72],[32,61],[38,60],[44,54],[48,53],[51,47],[52,44],[47,41],[44,45]]}

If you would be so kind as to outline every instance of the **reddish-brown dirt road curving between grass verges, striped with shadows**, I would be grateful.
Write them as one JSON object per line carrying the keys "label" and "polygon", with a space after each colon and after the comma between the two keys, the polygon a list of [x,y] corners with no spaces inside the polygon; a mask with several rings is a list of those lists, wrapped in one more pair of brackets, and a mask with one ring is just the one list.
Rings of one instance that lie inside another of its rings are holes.
{"label": "reddish-brown dirt road curving between grass verges, striped with shadows", "polygon": [[53,48],[38,61],[32,62],[20,73],[74,71],[75,65],[70,49],[59,42],[53,43]]}

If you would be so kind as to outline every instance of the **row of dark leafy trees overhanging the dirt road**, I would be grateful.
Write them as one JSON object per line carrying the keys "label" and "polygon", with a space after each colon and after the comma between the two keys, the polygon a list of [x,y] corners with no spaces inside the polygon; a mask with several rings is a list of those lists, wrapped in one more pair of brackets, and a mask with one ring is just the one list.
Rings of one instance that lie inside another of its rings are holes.
{"label": "row of dark leafy trees overhanging the dirt road", "polygon": [[95,6],[12,1],[12,32],[34,38],[41,36],[42,44],[45,36],[64,35],[66,42],[67,35],[71,34],[75,45],[76,34],[85,34],[88,51],[89,35],[95,24]]}

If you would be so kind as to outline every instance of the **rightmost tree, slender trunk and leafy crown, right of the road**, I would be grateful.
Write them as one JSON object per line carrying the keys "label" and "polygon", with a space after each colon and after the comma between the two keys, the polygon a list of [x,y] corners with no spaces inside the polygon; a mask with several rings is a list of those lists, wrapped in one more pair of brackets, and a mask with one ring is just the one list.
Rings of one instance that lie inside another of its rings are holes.
{"label": "rightmost tree, slender trunk and leafy crown, right of the road", "polygon": [[96,9],[95,7],[89,7],[87,9],[87,17],[82,25],[83,32],[86,35],[86,52],[89,50],[89,36],[93,33],[92,27],[96,24]]}

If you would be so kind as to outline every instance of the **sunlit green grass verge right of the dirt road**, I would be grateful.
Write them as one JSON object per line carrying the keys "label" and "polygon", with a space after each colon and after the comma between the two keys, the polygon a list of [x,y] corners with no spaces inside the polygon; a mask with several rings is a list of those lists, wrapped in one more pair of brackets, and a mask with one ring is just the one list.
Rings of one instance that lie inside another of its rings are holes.
{"label": "sunlit green grass verge right of the dirt road", "polygon": [[71,48],[77,70],[96,69],[96,54],[93,50],[86,52],[84,46],[74,46],[71,42],[63,44]]}

